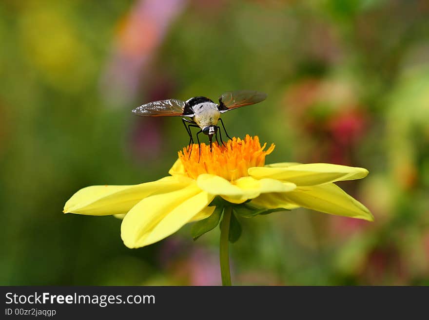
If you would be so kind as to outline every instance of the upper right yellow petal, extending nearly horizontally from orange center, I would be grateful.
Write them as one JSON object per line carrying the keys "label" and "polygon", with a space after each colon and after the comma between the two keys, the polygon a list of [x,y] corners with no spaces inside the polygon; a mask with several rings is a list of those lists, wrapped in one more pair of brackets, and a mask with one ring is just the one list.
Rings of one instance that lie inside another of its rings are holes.
{"label": "upper right yellow petal, extending nearly horizontally from orange center", "polygon": [[368,170],[328,163],[310,163],[289,167],[254,167],[249,168],[249,174],[257,179],[272,178],[303,187],[341,180],[362,179],[367,176]]}

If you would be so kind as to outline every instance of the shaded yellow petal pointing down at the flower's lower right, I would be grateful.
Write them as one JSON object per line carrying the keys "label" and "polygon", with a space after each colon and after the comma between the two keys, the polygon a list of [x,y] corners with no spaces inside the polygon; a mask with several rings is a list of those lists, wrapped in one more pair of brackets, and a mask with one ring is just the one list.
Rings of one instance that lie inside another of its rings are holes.
{"label": "shaded yellow petal pointing down at the flower's lower right", "polygon": [[283,196],[300,207],[339,216],[374,220],[370,210],[334,184],[297,188],[284,193]]}

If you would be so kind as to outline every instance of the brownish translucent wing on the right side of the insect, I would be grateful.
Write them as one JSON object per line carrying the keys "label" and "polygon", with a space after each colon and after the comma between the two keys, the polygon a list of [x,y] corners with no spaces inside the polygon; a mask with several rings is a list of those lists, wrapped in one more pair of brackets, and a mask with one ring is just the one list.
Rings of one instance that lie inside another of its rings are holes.
{"label": "brownish translucent wing on the right side of the insect", "polygon": [[219,97],[219,111],[224,113],[231,109],[261,102],[266,98],[267,94],[253,90],[226,92]]}

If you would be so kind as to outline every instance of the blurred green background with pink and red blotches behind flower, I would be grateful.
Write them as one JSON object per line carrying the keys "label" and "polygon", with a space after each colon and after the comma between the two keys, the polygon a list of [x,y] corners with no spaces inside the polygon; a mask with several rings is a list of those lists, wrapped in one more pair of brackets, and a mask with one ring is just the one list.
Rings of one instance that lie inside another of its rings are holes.
{"label": "blurred green background with pink and red blotches behind flower", "polygon": [[162,98],[266,92],[223,116],[267,163],[365,167],[373,223],[306,209],[243,219],[234,284],[429,284],[426,0],[1,0],[0,284],[220,284],[219,230],[126,248],[120,220],[62,213],[89,185],[167,175]]}

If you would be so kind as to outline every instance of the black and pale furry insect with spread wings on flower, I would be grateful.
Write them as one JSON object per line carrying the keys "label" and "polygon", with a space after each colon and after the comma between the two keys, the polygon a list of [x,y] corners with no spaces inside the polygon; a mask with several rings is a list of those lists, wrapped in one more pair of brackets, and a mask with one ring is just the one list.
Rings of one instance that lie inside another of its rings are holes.
{"label": "black and pale furry insect with spread wings on flower", "polygon": [[[212,140],[213,136],[217,140],[217,133],[219,132],[219,138],[223,145],[222,134],[220,127],[217,125],[218,121],[222,124],[223,130],[226,136],[231,139],[228,135],[225,125],[223,124],[220,115],[229,110],[248,106],[265,100],[267,94],[251,91],[251,90],[240,90],[226,92],[219,96],[219,104],[216,104],[212,100],[204,96],[196,96],[186,101],[177,99],[168,99],[153,101],[147,104],[141,105],[134,109],[132,112],[140,116],[184,116],[191,119],[182,118],[183,125],[185,126],[186,132],[190,137],[189,146],[194,143],[192,137],[191,127],[199,128],[200,130],[196,133],[196,140],[198,146],[200,144],[198,134],[201,132],[209,136],[210,151],[212,151]],[[192,151],[191,151],[192,152]],[[200,151],[201,154],[201,151]]]}

